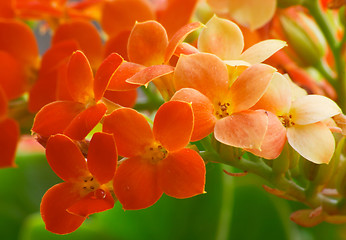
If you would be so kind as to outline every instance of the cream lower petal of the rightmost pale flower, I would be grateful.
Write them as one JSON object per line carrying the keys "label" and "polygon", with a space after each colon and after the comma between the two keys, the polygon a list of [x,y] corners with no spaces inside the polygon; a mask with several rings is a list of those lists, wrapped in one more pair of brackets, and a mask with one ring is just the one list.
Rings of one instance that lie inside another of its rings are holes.
{"label": "cream lower petal of the rightmost pale flower", "polygon": [[333,156],[335,140],[329,128],[323,123],[289,127],[287,139],[294,150],[313,163],[329,163]]}

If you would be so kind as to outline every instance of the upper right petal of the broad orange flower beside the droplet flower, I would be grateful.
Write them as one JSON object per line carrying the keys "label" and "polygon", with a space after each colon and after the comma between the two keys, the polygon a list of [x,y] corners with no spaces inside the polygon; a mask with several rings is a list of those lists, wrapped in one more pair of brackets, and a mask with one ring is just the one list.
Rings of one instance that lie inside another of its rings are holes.
{"label": "upper right petal of the broad orange flower beside the droplet flower", "polygon": [[193,113],[189,103],[169,101],[157,110],[153,132],[154,137],[168,151],[184,148],[191,138]]}

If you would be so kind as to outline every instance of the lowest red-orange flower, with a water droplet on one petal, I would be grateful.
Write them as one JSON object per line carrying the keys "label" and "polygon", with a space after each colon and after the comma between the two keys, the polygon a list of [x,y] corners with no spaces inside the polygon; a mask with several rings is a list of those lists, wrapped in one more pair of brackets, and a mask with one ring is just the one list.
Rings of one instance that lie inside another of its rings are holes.
{"label": "lowest red-orange flower, with a water droplet on one petal", "polygon": [[47,230],[70,233],[90,214],[113,208],[109,182],[116,170],[117,150],[112,135],[93,135],[87,161],[71,139],[54,135],[48,140],[46,156],[53,171],[65,181],[42,198],[41,215]]}

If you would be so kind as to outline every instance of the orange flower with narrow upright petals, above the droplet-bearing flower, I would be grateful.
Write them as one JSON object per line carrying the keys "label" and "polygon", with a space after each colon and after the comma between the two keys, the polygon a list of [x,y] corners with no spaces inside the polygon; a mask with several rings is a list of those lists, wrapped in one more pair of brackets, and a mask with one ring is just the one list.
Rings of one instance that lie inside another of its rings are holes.
{"label": "orange flower with narrow upright petals, above the droplet-bearing flower", "polygon": [[32,131],[42,137],[64,133],[74,140],[84,139],[107,111],[100,100],[122,61],[118,54],[110,55],[94,79],[88,59],[81,51],[76,51],[70,58],[66,74],[72,101],[56,101],[44,106],[35,117]]}

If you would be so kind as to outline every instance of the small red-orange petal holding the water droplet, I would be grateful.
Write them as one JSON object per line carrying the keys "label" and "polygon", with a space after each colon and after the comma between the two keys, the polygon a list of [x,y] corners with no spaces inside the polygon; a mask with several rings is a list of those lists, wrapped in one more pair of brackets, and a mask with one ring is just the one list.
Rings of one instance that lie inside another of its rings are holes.
{"label": "small red-orange petal holding the water droplet", "polygon": [[113,207],[114,199],[110,192],[97,189],[71,205],[66,211],[77,216],[88,217],[90,214],[103,212]]}

